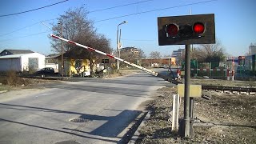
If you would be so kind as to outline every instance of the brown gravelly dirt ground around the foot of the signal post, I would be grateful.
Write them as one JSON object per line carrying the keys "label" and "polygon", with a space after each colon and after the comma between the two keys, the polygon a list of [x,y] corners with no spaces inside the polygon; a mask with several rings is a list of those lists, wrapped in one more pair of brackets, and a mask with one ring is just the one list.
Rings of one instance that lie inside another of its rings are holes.
{"label": "brown gravelly dirt ground around the foot of the signal post", "polygon": [[[256,82],[221,82],[193,80],[192,83],[221,86],[256,86]],[[214,84],[215,82],[215,84]],[[158,90],[148,105],[150,119],[140,130],[142,139],[136,143],[256,143],[256,95],[226,94],[202,91],[210,100],[195,98],[194,118],[213,126],[194,126],[194,138],[181,138],[171,130],[171,111],[176,87]],[[183,98],[179,118],[183,118]]]}

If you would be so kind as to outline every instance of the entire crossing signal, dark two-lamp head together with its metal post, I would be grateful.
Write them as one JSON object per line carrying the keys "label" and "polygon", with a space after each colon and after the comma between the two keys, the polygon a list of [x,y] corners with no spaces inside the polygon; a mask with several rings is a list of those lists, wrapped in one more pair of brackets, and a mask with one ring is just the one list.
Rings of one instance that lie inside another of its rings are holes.
{"label": "entire crossing signal, dark two-lamp head together with its metal post", "polygon": [[212,43],[215,43],[214,14],[158,18],[158,45],[185,45],[186,48],[184,117],[179,128],[184,137],[190,137],[190,121],[193,124],[193,110],[190,110],[193,109],[193,106],[190,106],[190,44]]}

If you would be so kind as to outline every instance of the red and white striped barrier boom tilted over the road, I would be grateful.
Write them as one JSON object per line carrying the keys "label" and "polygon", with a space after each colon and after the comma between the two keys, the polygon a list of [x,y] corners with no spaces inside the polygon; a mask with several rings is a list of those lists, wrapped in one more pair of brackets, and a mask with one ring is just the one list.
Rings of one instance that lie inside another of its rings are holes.
{"label": "red and white striped barrier boom tilted over the road", "polygon": [[80,46],[80,47],[83,47],[83,48],[85,48],[85,49],[87,49],[87,50],[95,51],[95,52],[98,53],[98,54],[103,54],[103,55],[106,55],[106,56],[108,56],[108,57],[110,57],[110,58],[117,59],[118,61],[125,62],[127,65],[137,67],[138,69],[144,70],[144,71],[146,71],[146,72],[149,73],[149,74],[152,74],[152,75],[157,76],[157,77],[159,77],[159,78],[163,78],[163,79],[165,79],[166,81],[169,81],[169,82],[172,82],[172,83],[176,83],[176,82],[171,81],[171,79],[167,78],[166,76],[164,76],[164,75],[162,75],[162,74],[158,74],[158,73],[154,72],[153,70],[148,70],[148,69],[146,69],[145,67],[135,65],[134,63],[127,62],[127,61],[123,60],[122,58],[115,57],[114,55],[106,54],[106,53],[104,53],[104,52],[102,52],[102,51],[100,51],[100,50],[95,50],[94,48],[91,48],[91,47],[89,47],[89,46],[83,46],[83,45],[81,45],[81,44],[79,44],[79,43],[77,43],[77,42],[73,42],[73,41],[67,40],[67,39],[65,39],[65,38],[58,37],[58,36],[56,36],[56,35],[54,35],[54,34],[50,34],[50,36],[53,37],[53,38],[60,39],[60,40],[65,41],[65,42],[69,42],[70,44],[73,44],[73,45],[75,45],[75,46]]}

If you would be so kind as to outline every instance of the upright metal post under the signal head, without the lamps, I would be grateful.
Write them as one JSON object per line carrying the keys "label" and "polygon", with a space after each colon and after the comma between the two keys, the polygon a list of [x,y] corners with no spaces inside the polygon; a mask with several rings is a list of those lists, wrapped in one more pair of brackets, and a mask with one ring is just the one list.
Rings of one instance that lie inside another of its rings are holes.
{"label": "upright metal post under the signal head, without the lamps", "polygon": [[190,45],[185,52],[184,137],[190,136]]}

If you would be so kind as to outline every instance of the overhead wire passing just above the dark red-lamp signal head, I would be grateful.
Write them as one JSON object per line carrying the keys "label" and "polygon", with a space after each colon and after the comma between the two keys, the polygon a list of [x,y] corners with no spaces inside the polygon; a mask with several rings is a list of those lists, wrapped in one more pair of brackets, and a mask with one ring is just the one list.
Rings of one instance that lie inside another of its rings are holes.
{"label": "overhead wire passing just above the dark red-lamp signal head", "polygon": [[131,15],[145,14],[145,13],[150,13],[150,12],[154,12],[154,11],[174,9],[174,8],[178,8],[178,7],[182,7],[182,6],[192,6],[192,5],[198,5],[198,4],[202,4],[202,3],[206,3],[206,2],[214,2],[214,1],[218,1],[218,0],[210,0],[210,1],[204,1],[204,2],[194,2],[194,3],[189,3],[189,4],[186,4],[186,5],[171,6],[171,7],[166,7],[166,8],[162,8],[162,9],[155,9],[155,10],[147,10],[147,11],[142,11],[142,12],[138,12],[138,13],[134,13],[134,14],[121,15],[121,16],[114,17],[114,18],[106,18],[106,19],[102,19],[102,20],[99,20],[99,21],[96,21],[96,22],[103,22],[103,21],[108,21],[108,20],[111,20],[111,19],[128,17],[128,16],[131,16]]}

